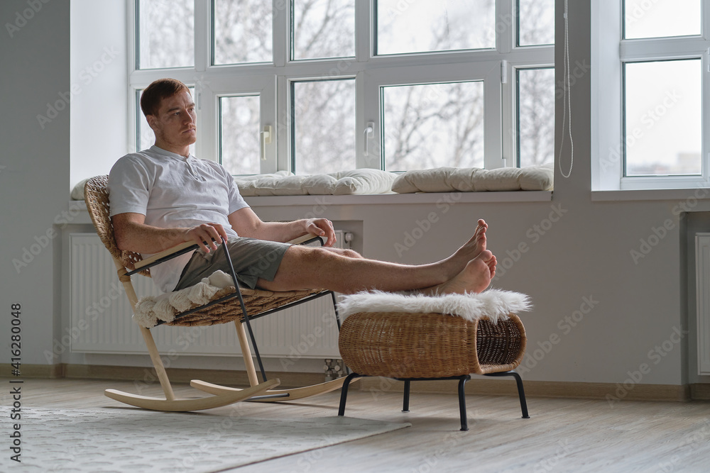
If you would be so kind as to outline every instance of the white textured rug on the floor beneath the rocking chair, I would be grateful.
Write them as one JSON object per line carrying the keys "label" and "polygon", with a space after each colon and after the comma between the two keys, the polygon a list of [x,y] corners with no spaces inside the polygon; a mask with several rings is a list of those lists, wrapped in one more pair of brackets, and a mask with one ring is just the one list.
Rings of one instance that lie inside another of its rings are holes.
{"label": "white textured rug on the floor beneath the rocking chair", "polygon": [[[133,409],[22,409],[21,463],[2,472],[221,472],[408,427],[349,417],[264,419]],[[16,421],[13,421],[16,422]],[[5,447],[13,431],[2,416]]]}

